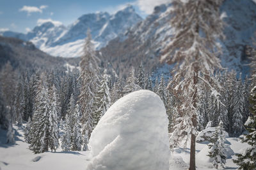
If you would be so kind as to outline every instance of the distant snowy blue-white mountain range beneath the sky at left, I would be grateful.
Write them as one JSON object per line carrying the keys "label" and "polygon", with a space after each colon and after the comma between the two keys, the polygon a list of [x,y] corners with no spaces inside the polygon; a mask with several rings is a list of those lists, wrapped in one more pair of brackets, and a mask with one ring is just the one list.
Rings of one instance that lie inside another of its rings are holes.
{"label": "distant snowy blue-white mountain range beneath the sky at left", "polygon": [[116,38],[118,34],[140,20],[142,19],[134,8],[127,6],[113,15],[107,12],[85,14],[67,27],[49,20],[39,24],[27,34],[4,31],[0,32],[0,35],[33,42],[38,49],[52,56],[72,58],[81,55],[88,28],[92,31],[95,47],[100,49],[106,46],[109,40]]}

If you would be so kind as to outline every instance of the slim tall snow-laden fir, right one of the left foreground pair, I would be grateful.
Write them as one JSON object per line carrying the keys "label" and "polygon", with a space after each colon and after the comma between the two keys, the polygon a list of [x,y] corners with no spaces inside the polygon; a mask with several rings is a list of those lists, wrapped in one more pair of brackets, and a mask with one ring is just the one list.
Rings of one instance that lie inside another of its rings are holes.
{"label": "slim tall snow-laden fir, right one of the left foreground pair", "polygon": [[58,106],[56,97],[56,88],[54,84],[52,85],[50,91],[50,102],[51,110],[49,112],[49,147],[56,151],[59,147],[59,129],[58,129]]}

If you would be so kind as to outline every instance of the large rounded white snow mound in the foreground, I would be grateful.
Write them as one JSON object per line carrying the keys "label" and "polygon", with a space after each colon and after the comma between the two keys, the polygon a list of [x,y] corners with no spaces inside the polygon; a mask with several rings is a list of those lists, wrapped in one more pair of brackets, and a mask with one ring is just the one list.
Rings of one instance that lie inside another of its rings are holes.
{"label": "large rounded white snow mound in the foreground", "polygon": [[169,169],[168,118],[162,100],[140,90],[120,98],[92,132],[87,170]]}

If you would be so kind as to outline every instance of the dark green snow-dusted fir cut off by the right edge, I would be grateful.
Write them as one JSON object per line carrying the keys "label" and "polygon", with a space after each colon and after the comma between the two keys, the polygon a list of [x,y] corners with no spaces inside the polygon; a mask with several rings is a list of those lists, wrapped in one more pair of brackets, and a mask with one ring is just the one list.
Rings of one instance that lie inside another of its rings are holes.
{"label": "dark green snow-dusted fir cut off by the right edge", "polygon": [[256,169],[256,86],[251,91],[250,104],[252,116],[244,124],[249,133],[242,139],[243,143],[248,143],[250,146],[243,153],[238,154],[236,160],[233,160],[239,169]]}

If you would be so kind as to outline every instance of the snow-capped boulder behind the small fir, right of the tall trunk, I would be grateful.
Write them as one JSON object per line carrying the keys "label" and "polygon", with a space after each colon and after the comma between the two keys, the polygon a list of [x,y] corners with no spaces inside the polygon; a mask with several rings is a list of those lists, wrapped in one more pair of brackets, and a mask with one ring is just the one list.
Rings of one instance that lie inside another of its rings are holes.
{"label": "snow-capped boulder behind the small fir, right of the tall trunk", "polygon": [[[214,132],[215,132],[215,127],[205,128],[205,130],[202,130],[196,136],[196,143],[203,143],[203,142],[210,143]],[[228,132],[224,131],[224,134],[225,134],[225,137],[228,137]],[[227,139],[225,140],[225,144],[230,144],[227,141]]]}

